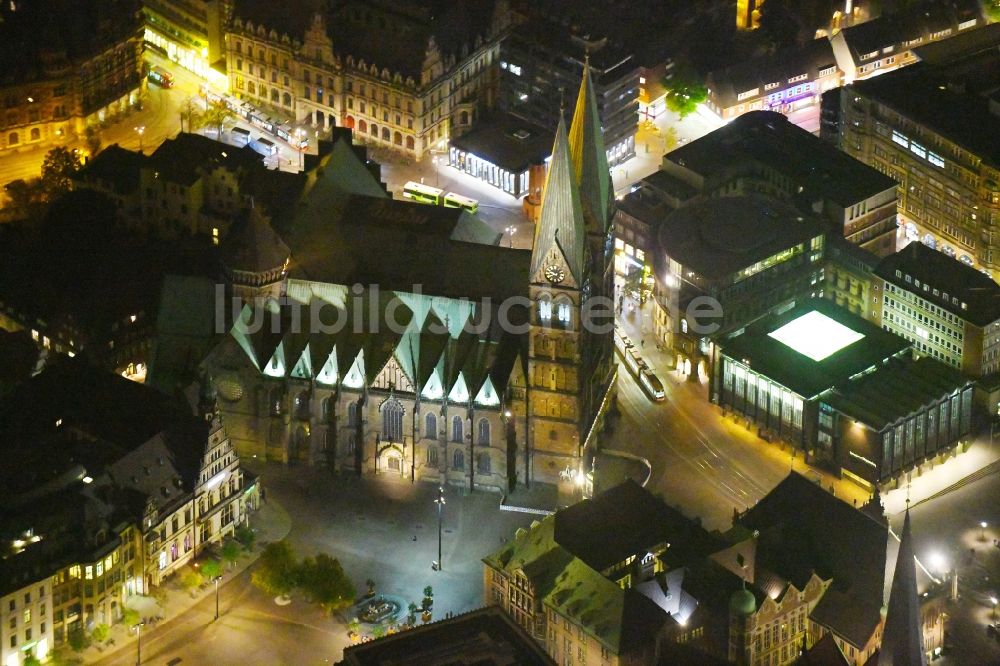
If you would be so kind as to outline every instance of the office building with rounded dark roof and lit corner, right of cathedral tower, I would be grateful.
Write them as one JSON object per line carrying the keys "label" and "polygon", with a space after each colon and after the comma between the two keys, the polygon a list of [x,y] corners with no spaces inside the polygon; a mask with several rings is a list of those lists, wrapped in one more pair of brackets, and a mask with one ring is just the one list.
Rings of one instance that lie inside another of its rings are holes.
{"label": "office building with rounded dark roof and lit corner, right of cathedral tower", "polygon": [[712,340],[823,294],[827,231],[779,199],[695,199],[656,234],[654,333],[692,380],[709,376]]}

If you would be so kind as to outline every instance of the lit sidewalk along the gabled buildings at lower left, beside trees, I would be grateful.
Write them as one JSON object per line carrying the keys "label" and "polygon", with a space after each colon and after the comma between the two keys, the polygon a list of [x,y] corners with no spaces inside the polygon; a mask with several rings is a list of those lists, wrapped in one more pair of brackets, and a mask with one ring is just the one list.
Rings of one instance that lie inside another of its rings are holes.
{"label": "lit sidewalk along the gabled buildings at lower left, beside trees", "polygon": [[[292,520],[288,512],[273,500],[262,502],[261,507],[250,515],[250,526],[257,535],[253,550],[244,553],[231,569],[226,569],[222,574],[223,585],[243,573],[251,564],[260,557],[261,550],[265,544],[272,541],[280,541],[288,535],[292,528]],[[183,571],[183,569],[182,569]],[[203,585],[193,596],[184,590],[180,585],[180,572],[171,576],[160,586],[165,590],[166,598],[163,603],[156,602],[153,597],[134,596],[126,604],[128,607],[136,607],[140,611],[140,616],[156,613],[163,618],[163,622],[169,621],[183,615],[195,604],[199,603],[211,594],[215,588],[211,585]],[[155,631],[155,628],[152,629]],[[150,631],[149,629],[146,630]],[[145,635],[146,632],[143,632]],[[119,651],[134,649],[135,633],[121,622],[114,624],[108,634],[108,639],[101,645],[94,643],[78,656],[82,657],[83,663],[93,663],[116,654]]]}

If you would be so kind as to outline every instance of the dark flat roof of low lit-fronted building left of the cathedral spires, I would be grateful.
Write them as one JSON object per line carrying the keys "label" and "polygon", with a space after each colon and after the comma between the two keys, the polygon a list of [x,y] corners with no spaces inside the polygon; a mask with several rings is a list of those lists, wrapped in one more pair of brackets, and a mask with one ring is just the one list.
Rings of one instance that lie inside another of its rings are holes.
{"label": "dark flat roof of low lit-fronted building left of the cathedral spires", "polygon": [[451,145],[511,173],[521,173],[530,166],[544,164],[554,140],[551,130],[503,114],[480,121],[471,131],[452,139]]}

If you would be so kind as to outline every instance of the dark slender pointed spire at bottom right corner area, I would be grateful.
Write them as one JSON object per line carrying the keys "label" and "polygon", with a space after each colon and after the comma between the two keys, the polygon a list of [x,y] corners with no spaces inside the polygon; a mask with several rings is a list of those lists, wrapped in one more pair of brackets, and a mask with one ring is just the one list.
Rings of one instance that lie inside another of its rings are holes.
{"label": "dark slender pointed spire at bottom right corner area", "polygon": [[913,560],[910,536],[910,510],[903,519],[896,571],[889,592],[889,610],[885,617],[878,666],[926,666],[923,633],[920,625],[920,597],[917,595],[917,569]]}

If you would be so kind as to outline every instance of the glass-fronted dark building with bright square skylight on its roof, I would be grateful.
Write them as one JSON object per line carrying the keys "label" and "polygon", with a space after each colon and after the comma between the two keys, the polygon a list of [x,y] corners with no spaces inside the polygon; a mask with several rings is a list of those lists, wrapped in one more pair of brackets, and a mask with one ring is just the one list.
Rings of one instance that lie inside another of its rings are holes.
{"label": "glass-fronted dark building with bright square skylight on its roof", "polygon": [[972,380],[824,299],[716,345],[713,402],[863,486],[949,455],[972,431]]}

